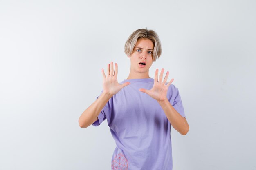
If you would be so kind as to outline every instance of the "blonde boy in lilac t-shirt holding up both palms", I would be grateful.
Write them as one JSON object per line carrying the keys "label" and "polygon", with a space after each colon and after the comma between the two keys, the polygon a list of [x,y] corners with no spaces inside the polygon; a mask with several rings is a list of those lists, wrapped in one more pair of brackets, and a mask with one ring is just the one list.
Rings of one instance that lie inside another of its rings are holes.
{"label": "blonde boy in lilac t-shirt holding up both palms", "polygon": [[171,125],[182,135],[189,131],[179,90],[173,79],[149,77],[149,68],[161,55],[161,43],[153,30],[134,31],[125,44],[130,74],[117,82],[117,63],[108,64],[103,90],[79,117],[79,126],[99,126],[105,119],[117,144],[112,170],[172,170]]}

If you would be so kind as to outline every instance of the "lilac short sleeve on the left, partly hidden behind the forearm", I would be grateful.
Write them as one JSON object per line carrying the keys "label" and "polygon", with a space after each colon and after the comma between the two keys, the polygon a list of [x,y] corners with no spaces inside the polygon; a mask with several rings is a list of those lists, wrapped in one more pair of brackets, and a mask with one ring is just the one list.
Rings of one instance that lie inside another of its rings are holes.
{"label": "lilac short sleeve on the left, partly hidden behind the forearm", "polygon": [[[103,93],[103,90],[101,91],[100,95],[102,93]],[[97,97],[97,99],[99,98],[99,96]],[[99,116],[98,116],[99,120],[94,121],[94,123],[92,123],[93,126],[99,126],[105,119],[107,119],[107,120],[110,119],[111,103],[112,103],[111,101],[112,101],[112,98],[109,99],[109,101],[106,103],[106,105],[101,110],[101,113],[99,113]]]}

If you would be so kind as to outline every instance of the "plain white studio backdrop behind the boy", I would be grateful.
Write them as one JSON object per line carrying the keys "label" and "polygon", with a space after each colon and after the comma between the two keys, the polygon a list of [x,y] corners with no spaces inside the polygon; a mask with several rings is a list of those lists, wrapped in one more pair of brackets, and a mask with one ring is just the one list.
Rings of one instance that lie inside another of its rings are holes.
{"label": "plain white studio backdrop behind the boy", "polygon": [[[171,130],[173,170],[255,170],[256,2],[0,0],[0,170],[110,170],[105,120],[78,119],[102,90],[101,68],[126,79],[128,36],[153,29],[190,125]],[[147,155],[145,155],[146,157]]]}

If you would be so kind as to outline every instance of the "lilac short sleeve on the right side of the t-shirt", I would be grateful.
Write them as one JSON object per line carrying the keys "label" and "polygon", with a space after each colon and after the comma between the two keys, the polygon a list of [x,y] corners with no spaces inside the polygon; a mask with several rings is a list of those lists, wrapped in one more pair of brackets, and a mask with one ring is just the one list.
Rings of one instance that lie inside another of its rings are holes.
{"label": "lilac short sleeve on the right side of the t-shirt", "polygon": [[170,85],[170,89],[169,89],[169,102],[171,103],[171,105],[173,106],[173,108],[175,108],[175,110],[180,113],[180,115],[182,115],[182,117],[186,118],[185,112],[184,112],[184,108],[183,108],[183,104],[182,104],[182,100],[180,97],[180,92],[179,89],[177,87],[175,87],[173,84]]}

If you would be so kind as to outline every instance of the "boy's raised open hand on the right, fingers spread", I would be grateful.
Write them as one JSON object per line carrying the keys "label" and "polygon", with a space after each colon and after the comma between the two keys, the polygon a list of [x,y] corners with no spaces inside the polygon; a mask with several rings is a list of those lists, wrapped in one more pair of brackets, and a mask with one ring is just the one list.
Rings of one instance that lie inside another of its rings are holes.
{"label": "boy's raised open hand on the right, fingers spread", "polygon": [[171,79],[171,81],[168,82],[168,84],[165,84],[168,79],[169,72],[167,71],[164,77],[164,81],[162,82],[163,74],[164,74],[164,68],[162,68],[159,76],[159,80],[158,80],[158,69],[156,69],[155,81],[154,81],[153,87],[150,90],[140,88],[139,91],[147,93],[148,95],[150,95],[152,98],[156,99],[159,102],[164,101],[167,97],[168,87],[171,85],[174,79]]}

